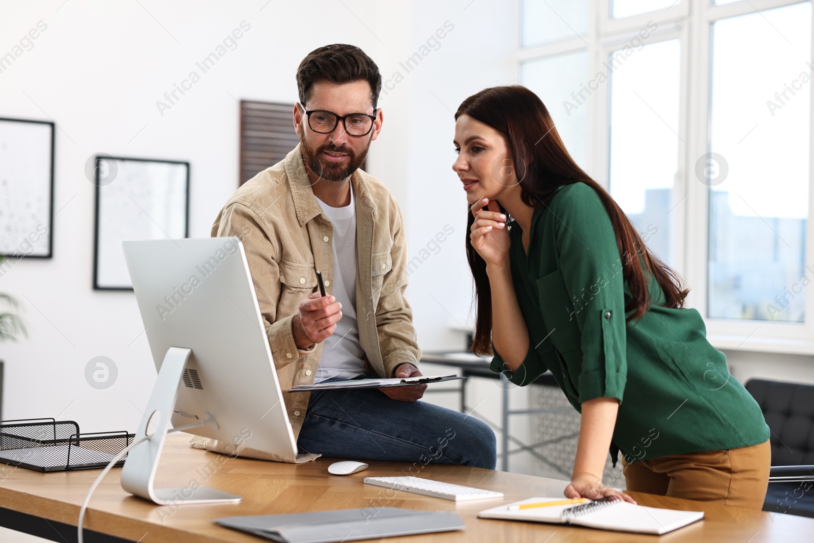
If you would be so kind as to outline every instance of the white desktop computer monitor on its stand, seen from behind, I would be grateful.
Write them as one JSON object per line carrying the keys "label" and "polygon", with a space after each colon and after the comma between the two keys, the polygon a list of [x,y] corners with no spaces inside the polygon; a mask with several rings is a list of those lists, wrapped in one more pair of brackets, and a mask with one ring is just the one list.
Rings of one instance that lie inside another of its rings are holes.
{"label": "white desktop computer monitor on its stand, seen from behind", "polygon": [[[158,370],[136,438],[151,427],[199,424],[186,431],[239,440],[293,462],[294,432],[240,240],[161,239],[123,247]],[[160,505],[239,501],[213,488],[153,488],[164,438],[157,431],[129,452],[121,474],[126,491]]]}

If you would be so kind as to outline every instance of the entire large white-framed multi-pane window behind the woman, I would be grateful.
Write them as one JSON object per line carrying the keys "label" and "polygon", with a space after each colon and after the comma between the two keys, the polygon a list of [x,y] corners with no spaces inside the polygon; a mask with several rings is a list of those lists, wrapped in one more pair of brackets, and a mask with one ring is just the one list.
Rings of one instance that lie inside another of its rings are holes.
{"label": "entire large white-framed multi-pane window behind the woman", "polygon": [[812,2],[520,6],[519,82],[685,278],[712,344],[814,354]]}

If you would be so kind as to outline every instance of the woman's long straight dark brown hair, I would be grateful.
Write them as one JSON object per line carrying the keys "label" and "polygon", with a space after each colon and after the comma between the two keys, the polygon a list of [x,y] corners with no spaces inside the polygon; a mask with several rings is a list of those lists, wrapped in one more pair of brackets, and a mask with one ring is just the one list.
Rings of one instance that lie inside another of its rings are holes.
{"label": "woman's long straight dark brown hair", "polygon": [[[455,112],[455,120],[462,115],[479,120],[505,136],[514,158],[514,172],[519,179],[524,204],[532,208],[547,205],[559,186],[575,182],[583,182],[596,190],[613,225],[619,254],[623,256],[622,276],[632,294],[624,308],[625,313],[632,311],[628,321],[641,318],[650,307],[650,277],[659,282],[665,307],[681,308],[684,305],[689,290],[682,286],[680,276],[647,249],[614,199],[574,162],[554,128],[548,110],[536,94],[521,85],[484,89],[461,103]],[[505,212],[505,209],[501,208],[501,211]],[[472,213],[467,216],[468,233],[475,217]],[[477,306],[471,350],[476,354],[488,354],[492,352],[492,290],[486,262],[472,247],[469,235],[466,235],[466,259],[475,278]]]}

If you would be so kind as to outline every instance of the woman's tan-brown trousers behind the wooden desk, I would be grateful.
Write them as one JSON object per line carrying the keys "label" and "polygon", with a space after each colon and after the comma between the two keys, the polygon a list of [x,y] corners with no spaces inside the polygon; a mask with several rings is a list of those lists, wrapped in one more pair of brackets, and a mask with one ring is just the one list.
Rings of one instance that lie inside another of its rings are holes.
{"label": "woman's tan-brown trousers behind the wooden desk", "polygon": [[628,490],[761,509],[772,449],[765,443],[704,453],[676,454],[628,463]]}

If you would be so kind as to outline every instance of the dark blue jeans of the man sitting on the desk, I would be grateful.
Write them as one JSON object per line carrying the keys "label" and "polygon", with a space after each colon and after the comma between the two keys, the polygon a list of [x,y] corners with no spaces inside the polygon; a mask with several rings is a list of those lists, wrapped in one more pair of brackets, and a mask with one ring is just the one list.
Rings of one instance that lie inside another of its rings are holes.
{"label": "dark blue jeans of the man sitting on the desk", "polygon": [[[430,462],[495,469],[495,433],[477,418],[376,388],[311,392],[300,453],[329,458]],[[405,474],[409,475],[409,474]],[[417,475],[413,473],[412,475]]]}

